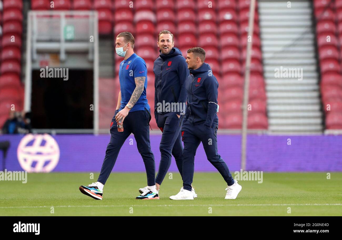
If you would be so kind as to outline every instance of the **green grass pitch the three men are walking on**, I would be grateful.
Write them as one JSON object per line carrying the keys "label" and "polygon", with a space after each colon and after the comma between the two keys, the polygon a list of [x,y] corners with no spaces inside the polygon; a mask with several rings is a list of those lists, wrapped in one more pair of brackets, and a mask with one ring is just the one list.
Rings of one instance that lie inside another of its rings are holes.
{"label": "green grass pitch the three men are walking on", "polygon": [[182,201],[169,199],[182,187],[177,172],[172,179],[166,176],[159,200],[135,200],[146,186],[145,173],[116,172],[103,200],[94,200],[78,189],[95,182],[98,173],[89,176],[28,173],[27,183],[1,181],[0,216],[342,216],[342,172],[331,172],[331,179],[326,172],[264,173],[263,183],[239,181],[242,190],[235,200],[224,199],[226,184],[218,172],[195,172],[198,197]]}

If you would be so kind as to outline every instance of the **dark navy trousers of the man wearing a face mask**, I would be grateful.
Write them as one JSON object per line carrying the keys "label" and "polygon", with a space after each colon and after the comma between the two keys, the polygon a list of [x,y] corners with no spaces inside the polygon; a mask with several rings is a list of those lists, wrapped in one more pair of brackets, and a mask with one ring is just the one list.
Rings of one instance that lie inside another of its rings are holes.
{"label": "dark navy trousers of the man wearing a face mask", "polygon": [[[116,111],[117,113],[117,111]],[[147,175],[147,185],[155,185],[156,167],[154,155],[151,151],[149,140],[149,121],[151,120],[150,111],[145,110],[129,112],[123,121],[123,132],[118,132],[115,115],[110,127],[110,141],[107,145],[106,156],[103,160],[100,176],[97,181],[103,184],[106,183],[111,170],[113,170],[116,158],[119,151],[126,141],[127,137],[133,133],[136,141],[136,146],[141,154]]]}

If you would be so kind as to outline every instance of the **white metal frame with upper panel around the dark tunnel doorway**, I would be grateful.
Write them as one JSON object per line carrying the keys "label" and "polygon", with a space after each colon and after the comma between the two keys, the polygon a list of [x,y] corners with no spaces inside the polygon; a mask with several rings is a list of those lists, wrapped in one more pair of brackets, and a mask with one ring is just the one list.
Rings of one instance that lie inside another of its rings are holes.
{"label": "white metal frame with upper panel around the dark tunnel doorway", "polygon": [[[32,70],[40,69],[44,54],[58,56],[54,67],[93,71],[93,129],[55,130],[56,133],[98,134],[98,14],[96,11],[29,11],[26,39],[25,103],[31,111]],[[87,56],[87,57],[85,57]],[[42,130],[46,132],[47,130]],[[38,131],[37,131],[38,132]]]}

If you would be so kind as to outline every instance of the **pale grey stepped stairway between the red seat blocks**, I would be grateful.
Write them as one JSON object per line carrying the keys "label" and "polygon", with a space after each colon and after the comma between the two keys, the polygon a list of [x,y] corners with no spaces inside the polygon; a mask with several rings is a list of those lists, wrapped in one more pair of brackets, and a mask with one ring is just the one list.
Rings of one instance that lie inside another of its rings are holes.
{"label": "pale grey stepped stairway between the red seat blocks", "polygon": [[[260,0],[260,32],[269,132],[322,133],[312,5],[308,0]],[[302,69],[300,76],[278,77],[275,70]]]}

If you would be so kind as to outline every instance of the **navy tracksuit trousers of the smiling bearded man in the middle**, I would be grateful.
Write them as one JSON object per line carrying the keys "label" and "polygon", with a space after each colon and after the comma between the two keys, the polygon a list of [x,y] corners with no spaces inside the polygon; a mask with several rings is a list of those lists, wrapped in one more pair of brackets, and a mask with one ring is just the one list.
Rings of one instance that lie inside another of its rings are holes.
{"label": "navy tracksuit trousers of the smiling bearded man in the middle", "polygon": [[164,114],[156,113],[156,122],[158,128],[162,131],[161,141],[159,145],[160,150],[160,164],[156,177],[156,183],[161,184],[164,180],[167,171],[171,165],[171,153],[176,160],[176,165],[179,172],[183,173],[182,160],[182,136],[181,128],[184,115],[178,118],[175,112],[166,112]]}

